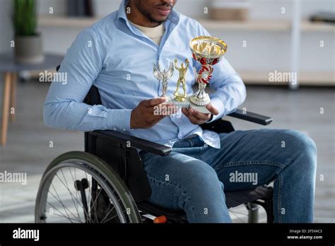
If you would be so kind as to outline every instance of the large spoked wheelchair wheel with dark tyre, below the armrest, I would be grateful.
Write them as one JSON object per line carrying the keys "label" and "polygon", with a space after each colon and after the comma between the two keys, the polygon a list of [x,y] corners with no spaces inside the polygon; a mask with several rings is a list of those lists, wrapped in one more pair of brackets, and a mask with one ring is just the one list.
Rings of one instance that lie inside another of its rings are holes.
{"label": "large spoked wheelchair wheel with dark tyre, below the armrest", "polygon": [[129,189],[104,160],[73,151],[50,163],[40,182],[36,223],[141,223]]}

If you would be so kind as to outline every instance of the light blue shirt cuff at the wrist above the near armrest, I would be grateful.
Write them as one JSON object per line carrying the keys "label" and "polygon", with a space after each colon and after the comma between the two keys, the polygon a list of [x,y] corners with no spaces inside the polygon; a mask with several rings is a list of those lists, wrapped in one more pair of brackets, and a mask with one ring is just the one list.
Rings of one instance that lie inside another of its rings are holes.
{"label": "light blue shirt cuff at the wrist above the near armrest", "polygon": [[130,116],[132,110],[109,110],[107,129],[114,131],[131,131]]}

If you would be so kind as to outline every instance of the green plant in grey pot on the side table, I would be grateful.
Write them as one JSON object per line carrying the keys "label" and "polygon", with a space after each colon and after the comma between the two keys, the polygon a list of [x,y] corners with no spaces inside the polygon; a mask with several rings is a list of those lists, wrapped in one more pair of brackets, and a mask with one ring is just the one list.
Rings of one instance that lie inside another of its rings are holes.
{"label": "green plant in grey pot on the side table", "polygon": [[13,0],[15,58],[19,63],[38,64],[44,60],[42,38],[37,29],[35,0]]}

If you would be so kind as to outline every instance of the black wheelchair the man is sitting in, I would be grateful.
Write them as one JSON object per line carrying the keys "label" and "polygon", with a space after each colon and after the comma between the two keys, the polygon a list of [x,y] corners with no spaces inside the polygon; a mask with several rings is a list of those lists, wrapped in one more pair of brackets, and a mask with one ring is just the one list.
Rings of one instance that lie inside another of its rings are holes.
{"label": "black wheelchair the man is sitting in", "polygon": [[[92,86],[84,102],[101,105],[98,88]],[[242,110],[229,116],[262,125],[272,122],[271,117]],[[223,119],[201,127],[217,133],[234,131]],[[112,130],[85,132],[84,137],[84,152],[58,156],[42,175],[36,223],[187,223],[184,211],[146,201],[151,187],[136,150],[167,156],[172,148]],[[225,198],[228,209],[245,204],[249,223],[258,221],[259,206],[266,211],[266,222],[274,222],[269,185],[225,192]]]}

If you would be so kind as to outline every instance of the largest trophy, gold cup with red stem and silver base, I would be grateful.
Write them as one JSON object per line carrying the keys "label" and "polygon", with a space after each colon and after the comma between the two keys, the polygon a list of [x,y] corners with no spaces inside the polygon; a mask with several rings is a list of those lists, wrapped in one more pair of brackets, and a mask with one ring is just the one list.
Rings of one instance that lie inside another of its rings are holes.
{"label": "largest trophy, gold cup with red stem and silver base", "polygon": [[[213,65],[220,61],[221,57],[227,51],[227,45],[223,40],[211,36],[194,37],[189,42],[189,47],[192,49],[193,58],[201,63],[201,69],[198,72],[199,90],[194,95],[189,97],[189,100],[197,106],[206,108],[211,99],[205,92],[205,88],[211,80],[213,74]],[[191,104],[192,107],[192,104]],[[201,110],[199,110],[201,111]]]}

